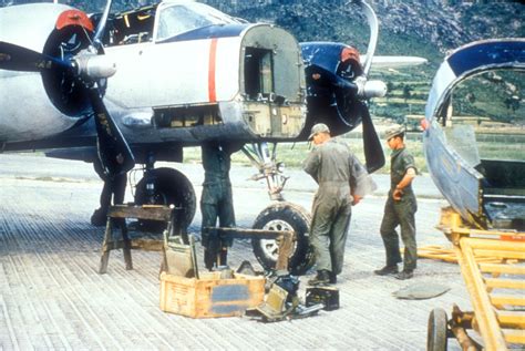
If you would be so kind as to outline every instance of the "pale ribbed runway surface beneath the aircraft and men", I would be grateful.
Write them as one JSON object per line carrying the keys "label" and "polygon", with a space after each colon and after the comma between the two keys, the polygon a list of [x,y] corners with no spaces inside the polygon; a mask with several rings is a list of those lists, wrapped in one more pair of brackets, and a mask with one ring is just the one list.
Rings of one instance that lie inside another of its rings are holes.
{"label": "pale ribbed runway surface beneath the aircraft and men", "polygon": [[[172,164],[194,183],[200,165]],[[255,169],[234,167],[238,225],[250,227],[270,202],[261,183],[246,180]],[[316,185],[291,172],[287,200],[310,208]],[[341,308],[318,316],[261,323],[248,318],[189,319],[158,308],[158,252],[133,251],[134,270],[112,252],[107,275],[99,275],[104,228],[90,225],[102,183],[91,165],[34,155],[0,155],[0,349],[109,350],[424,350],[433,308],[472,310],[456,265],[421,259],[415,277],[378,277],[384,264],[379,226],[388,188],[374,176],[377,195],[353,208],[346,264],[340,277]],[[138,180],[138,178],[137,178]],[[440,198],[429,177],[415,180],[420,195],[418,244],[449,245],[434,226]],[[130,194],[126,200],[132,200]],[[197,233],[197,215],[191,231]],[[199,250],[202,260],[202,251]],[[236,241],[229,262],[255,262],[249,242]],[[310,276],[301,277],[301,293]],[[449,292],[428,300],[399,300],[392,292],[412,283],[441,283]],[[460,350],[455,340],[450,350]]]}

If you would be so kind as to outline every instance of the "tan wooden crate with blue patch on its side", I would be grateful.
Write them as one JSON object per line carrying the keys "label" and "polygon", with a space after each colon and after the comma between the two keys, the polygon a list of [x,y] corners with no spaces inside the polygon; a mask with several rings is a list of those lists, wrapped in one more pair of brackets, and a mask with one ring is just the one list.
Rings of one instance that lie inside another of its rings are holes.
{"label": "tan wooden crate with blue patch on its side", "polygon": [[265,278],[234,273],[203,272],[200,279],[161,275],[161,310],[192,318],[241,316],[262,302]]}

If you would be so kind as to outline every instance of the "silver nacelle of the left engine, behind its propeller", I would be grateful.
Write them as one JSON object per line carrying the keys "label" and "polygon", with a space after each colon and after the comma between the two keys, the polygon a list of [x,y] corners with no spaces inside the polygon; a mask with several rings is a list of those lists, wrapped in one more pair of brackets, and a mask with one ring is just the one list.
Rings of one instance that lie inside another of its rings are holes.
{"label": "silver nacelle of the left engine, behind its propeller", "polygon": [[[72,10],[53,3],[1,8],[0,41],[55,58],[74,53],[85,48],[87,38],[76,24],[56,29],[58,19],[66,11]],[[70,41],[73,37],[78,40]],[[78,84],[65,73],[56,74],[53,70],[42,74],[0,70],[0,142],[39,140],[72,127],[91,112]],[[31,115],[20,113],[21,106]]]}

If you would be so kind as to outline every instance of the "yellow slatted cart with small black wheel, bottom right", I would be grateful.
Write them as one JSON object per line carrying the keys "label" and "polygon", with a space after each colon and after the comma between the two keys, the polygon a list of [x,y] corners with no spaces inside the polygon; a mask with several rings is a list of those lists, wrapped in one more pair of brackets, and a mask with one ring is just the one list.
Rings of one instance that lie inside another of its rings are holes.
{"label": "yellow slatted cart with small black wheel, bottom right", "polygon": [[[456,213],[442,217],[441,229],[454,245],[473,312],[454,306],[430,313],[428,350],[446,350],[455,337],[463,350],[481,350],[467,329],[475,330],[484,350],[525,345],[525,233],[476,230],[465,227]],[[490,261],[487,261],[490,259]]]}

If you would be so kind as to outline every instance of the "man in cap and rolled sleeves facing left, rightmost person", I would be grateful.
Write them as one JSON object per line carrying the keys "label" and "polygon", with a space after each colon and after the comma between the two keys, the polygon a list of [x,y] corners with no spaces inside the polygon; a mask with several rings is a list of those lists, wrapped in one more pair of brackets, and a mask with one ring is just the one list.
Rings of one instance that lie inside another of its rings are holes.
{"label": "man in cap and rolled sleeves facing left, rightmost person", "polygon": [[[387,251],[387,266],[374,270],[379,276],[397,275],[398,279],[410,279],[414,276],[418,260],[415,244],[415,220],[418,210],[412,180],[415,177],[414,157],[404,146],[404,130],[394,126],[387,131],[387,143],[392,149],[390,158],[390,192],[384,205],[384,215],[381,223],[381,237]],[[397,226],[401,227],[401,239],[404,244],[403,271],[398,273],[398,264],[401,262]]]}

